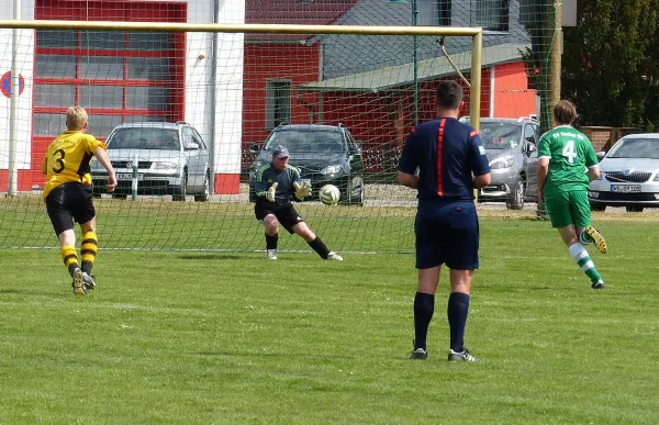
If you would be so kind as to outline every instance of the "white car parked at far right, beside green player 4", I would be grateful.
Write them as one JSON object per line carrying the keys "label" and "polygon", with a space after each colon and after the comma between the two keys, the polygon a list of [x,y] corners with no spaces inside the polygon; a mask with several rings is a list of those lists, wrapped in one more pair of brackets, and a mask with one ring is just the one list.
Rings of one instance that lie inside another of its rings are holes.
{"label": "white car parked at far right, beside green player 4", "polygon": [[593,211],[606,206],[625,206],[629,212],[659,208],[659,133],[630,134],[597,157],[601,175],[588,191]]}

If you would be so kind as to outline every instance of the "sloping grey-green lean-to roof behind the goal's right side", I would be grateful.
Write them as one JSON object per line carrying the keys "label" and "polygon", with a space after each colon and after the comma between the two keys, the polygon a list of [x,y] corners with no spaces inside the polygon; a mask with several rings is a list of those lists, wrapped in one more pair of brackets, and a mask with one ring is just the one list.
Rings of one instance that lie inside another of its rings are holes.
{"label": "sloping grey-green lean-to roof behind the goal's right side", "polygon": [[[495,65],[520,61],[522,52],[528,44],[499,44],[496,46],[483,47],[482,67],[489,68]],[[460,72],[471,70],[471,51],[450,55],[450,58]],[[428,81],[442,77],[456,75],[456,70],[445,56],[420,60],[417,64],[417,81]],[[300,92],[359,92],[377,93],[414,82],[414,64],[404,64],[376,69],[367,72],[350,74],[343,77],[331,78],[323,81],[314,81],[298,87]]]}

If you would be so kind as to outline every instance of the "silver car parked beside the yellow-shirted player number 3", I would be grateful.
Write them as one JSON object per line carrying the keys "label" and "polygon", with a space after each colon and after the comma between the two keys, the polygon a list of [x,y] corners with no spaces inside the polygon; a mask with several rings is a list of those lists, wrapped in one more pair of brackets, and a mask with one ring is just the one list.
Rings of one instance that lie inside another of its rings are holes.
{"label": "silver car parked beside the yellow-shirted player number 3", "polygon": [[[209,150],[190,124],[141,122],[118,125],[108,139],[108,156],[116,172],[113,197],[132,192],[133,166],[137,164],[137,193],[171,194],[185,201],[193,194],[205,202],[211,195]],[[94,194],[105,192],[108,172],[98,160],[91,166]]]}

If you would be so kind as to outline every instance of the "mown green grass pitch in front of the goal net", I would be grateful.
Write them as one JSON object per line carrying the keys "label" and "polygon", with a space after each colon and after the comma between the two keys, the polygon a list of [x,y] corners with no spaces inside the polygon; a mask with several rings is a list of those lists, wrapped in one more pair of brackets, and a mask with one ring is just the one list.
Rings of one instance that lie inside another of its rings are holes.
{"label": "mown green grass pitch in front of the goal net", "polygon": [[2,249],[0,423],[654,424],[659,226],[615,216],[589,249],[599,292],[547,223],[481,220],[478,365],[446,361],[446,273],[429,357],[407,360],[410,254],[101,247],[74,297],[58,250]]}

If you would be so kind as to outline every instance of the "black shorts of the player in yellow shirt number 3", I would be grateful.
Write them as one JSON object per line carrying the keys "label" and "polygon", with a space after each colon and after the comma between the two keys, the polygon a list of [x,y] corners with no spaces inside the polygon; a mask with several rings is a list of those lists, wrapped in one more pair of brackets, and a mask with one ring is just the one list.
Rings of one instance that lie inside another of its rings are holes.
{"label": "black shorts of the player in yellow shirt number 3", "polygon": [[96,215],[91,186],[78,182],[64,183],[51,191],[46,198],[46,211],[55,234],[74,228],[76,223],[85,224]]}

